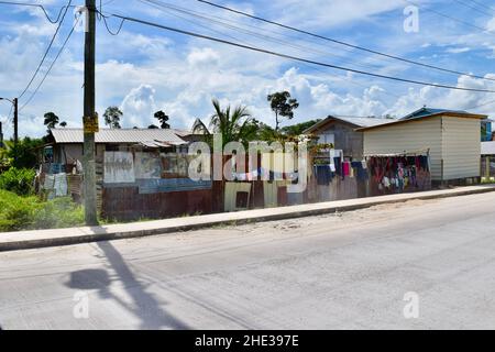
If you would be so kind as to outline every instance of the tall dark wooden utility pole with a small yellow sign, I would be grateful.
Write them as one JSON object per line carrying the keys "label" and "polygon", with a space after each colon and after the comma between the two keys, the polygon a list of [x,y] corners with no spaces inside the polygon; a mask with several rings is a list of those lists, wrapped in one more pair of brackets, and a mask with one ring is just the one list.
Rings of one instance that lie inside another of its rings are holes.
{"label": "tall dark wooden utility pole with a small yellow sign", "polygon": [[95,169],[95,132],[98,132],[98,117],[95,111],[95,0],[86,0],[85,33],[85,109],[84,109],[84,157],[85,219],[87,226],[97,226],[97,197]]}

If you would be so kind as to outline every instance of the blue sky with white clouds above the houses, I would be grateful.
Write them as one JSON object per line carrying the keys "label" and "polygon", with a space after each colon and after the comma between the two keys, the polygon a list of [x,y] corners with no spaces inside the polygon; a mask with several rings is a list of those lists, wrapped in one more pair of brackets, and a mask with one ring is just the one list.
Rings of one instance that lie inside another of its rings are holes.
{"label": "blue sky with white clouds above the houses", "polygon": [[[67,3],[62,0],[30,2],[46,6],[52,18]],[[195,0],[162,2],[176,10],[139,0],[102,0],[102,9],[108,14],[144,19],[355,69],[495,90],[495,81],[385,59]],[[419,6],[418,32],[404,30],[407,18],[404,11],[411,6],[406,0],[216,2],[355,45],[495,79],[495,1],[413,1]],[[0,4],[0,97],[13,98],[30,80],[56,25],[47,22],[40,9]],[[184,10],[194,13],[180,12]],[[73,23],[74,14],[69,10],[42,73]],[[110,19],[109,25],[116,30],[119,21]],[[40,92],[21,111],[21,135],[42,135],[45,132],[43,114],[47,111],[54,111],[68,127],[80,127],[82,59],[84,33],[76,32]],[[170,117],[173,128],[189,128],[196,118],[208,121],[212,97],[222,103],[245,105],[253,117],[273,124],[266,95],[277,90],[289,90],[300,102],[295,119],[285,124],[328,114],[403,116],[424,105],[451,109],[484,105],[474,112],[493,114],[495,111],[495,103],[487,103],[495,100],[495,94],[413,86],[314,67],[129,22],[117,36],[110,35],[103,23],[98,22],[96,79],[100,116],[108,106],[119,106],[124,112],[125,128],[147,127],[154,122],[153,112],[160,109]],[[29,97],[28,92],[20,105]],[[1,121],[7,122],[9,110],[8,102],[0,102]],[[4,133],[10,136],[10,125],[4,125]]]}

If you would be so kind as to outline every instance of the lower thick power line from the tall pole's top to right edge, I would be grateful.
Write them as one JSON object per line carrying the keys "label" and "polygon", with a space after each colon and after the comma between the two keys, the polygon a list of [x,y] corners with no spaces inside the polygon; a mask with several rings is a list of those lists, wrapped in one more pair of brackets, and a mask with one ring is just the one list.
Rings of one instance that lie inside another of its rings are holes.
{"label": "lower thick power line from the tall pole's top to right edge", "polygon": [[420,86],[430,86],[430,87],[437,87],[437,88],[465,90],[465,91],[495,92],[495,90],[488,90],[488,89],[455,87],[455,86],[432,84],[432,82],[426,82],[426,81],[420,81],[420,80],[413,80],[413,79],[373,74],[373,73],[369,73],[369,72],[358,70],[358,69],[353,69],[353,68],[348,68],[348,67],[342,67],[342,66],[338,66],[338,65],[331,65],[331,64],[327,64],[327,63],[320,63],[320,62],[316,62],[316,61],[311,61],[311,59],[307,59],[307,58],[301,58],[301,57],[297,57],[297,56],[292,56],[292,55],[287,55],[287,54],[282,54],[282,53],[277,53],[277,52],[273,52],[273,51],[268,51],[268,50],[264,50],[264,48],[258,48],[258,47],[254,47],[254,46],[250,46],[250,45],[244,45],[244,44],[240,44],[240,43],[229,42],[229,41],[226,41],[222,38],[204,35],[204,34],[199,34],[199,33],[195,33],[195,32],[189,32],[189,31],[185,31],[185,30],[179,30],[179,29],[162,25],[158,23],[148,22],[145,20],[134,19],[134,18],[130,18],[130,16],[122,16],[120,14],[111,14],[111,15],[114,18],[118,18],[118,19],[123,19],[129,22],[141,23],[141,24],[158,28],[158,29],[166,30],[166,31],[172,31],[172,32],[176,32],[176,33],[180,33],[180,34],[189,35],[189,36],[195,36],[195,37],[199,37],[199,38],[204,38],[204,40],[208,40],[208,41],[212,41],[212,42],[217,42],[217,43],[222,43],[222,44],[228,44],[231,46],[245,48],[245,50],[253,51],[253,52],[264,53],[264,54],[278,56],[278,57],[283,57],[283,58],[288,58],[288,59],[302,62],[302,63],[307,63],[307,64],[312,64],[312,65],[317,65],[317,66],[324,66],[324,67],[334,68],[334,69],[339,69],[339,70],[345,70],[349,73],[366,75],[366,76],[372,76],[372,77],[377,77],[377,78],[384,78],[384,79],[389,79],[389,80],[396,80],[396,81],[403,81],[403,82],[420,85]]}

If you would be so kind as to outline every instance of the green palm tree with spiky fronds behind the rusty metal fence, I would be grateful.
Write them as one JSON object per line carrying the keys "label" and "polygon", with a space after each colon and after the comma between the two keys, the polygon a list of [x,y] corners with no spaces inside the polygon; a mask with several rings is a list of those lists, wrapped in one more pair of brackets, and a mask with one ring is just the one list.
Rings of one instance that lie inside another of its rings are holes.
{"label": "green palm tree with spiky fronds behind the rusty metal fence", "polygon": [[252,134],[252,131],[248,128],[252,121],[248,108],[238,106],[232,111],[230,106],[223,110],[217,99],[213,99],[212,103],[215,114],[211,117],[210,125],[215,133],[222,135],[222,146],[234,141],[245,143]]}

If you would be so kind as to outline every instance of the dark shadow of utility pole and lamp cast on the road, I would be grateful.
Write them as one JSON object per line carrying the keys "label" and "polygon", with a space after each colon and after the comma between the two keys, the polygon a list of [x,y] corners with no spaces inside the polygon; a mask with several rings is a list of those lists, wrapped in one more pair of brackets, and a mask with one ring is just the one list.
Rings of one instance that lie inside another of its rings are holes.
{"label": "dark shadow of utility pole and lamp cast on the road", "polygon": [[103,252],[111,268],[117,274],[116,280],[122,284],[132,302],[122,300],[109,289],[111,278],[106,270],[82,270],[70,273],[67,286],[76,289],[98,289],[102,298],[113,299],[141,320],[140,329],[178,329],[188,327],[166,312],[153,295],[146,293],[142,283],[134,276],[124,257],[110,242],[98,242],[98,248]]}

